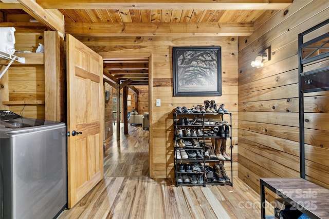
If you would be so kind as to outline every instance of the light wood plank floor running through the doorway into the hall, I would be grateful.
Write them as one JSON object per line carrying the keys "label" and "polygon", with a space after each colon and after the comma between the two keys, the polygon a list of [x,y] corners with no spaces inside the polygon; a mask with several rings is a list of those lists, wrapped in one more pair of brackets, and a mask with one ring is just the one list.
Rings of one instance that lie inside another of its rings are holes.
{"label": "light wood plank floor running through the doorway into the hall", "polygon": [[104,179],[59,219],[261,217],[259,194],[239,178],[233,187],[176,187],[172,178],[150,178],[149,131],[129,126],[129,133],[105,145]]}

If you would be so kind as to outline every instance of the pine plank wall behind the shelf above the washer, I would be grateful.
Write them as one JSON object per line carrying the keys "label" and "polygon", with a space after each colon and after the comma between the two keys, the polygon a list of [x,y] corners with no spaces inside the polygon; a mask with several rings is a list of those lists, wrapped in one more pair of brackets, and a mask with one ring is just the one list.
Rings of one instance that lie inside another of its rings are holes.
{"label": "pine plank wall behind the shelf above the washer", "polygon": [[[26,64],[14,62],[1,78],[1,109],[8,109],[25,117],[45,119],[44,55],[35,51],[39,43],[44,44],[46,29],[39,26],[15,29],[15,50],[32,53],[15,53],[20,57],[26,56]],[[6,105],[3,104],[4,101],[7,102]],[[27,104],[23,104],[24,101]]]}

